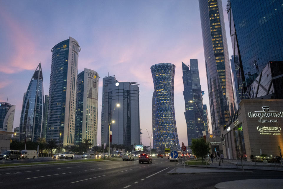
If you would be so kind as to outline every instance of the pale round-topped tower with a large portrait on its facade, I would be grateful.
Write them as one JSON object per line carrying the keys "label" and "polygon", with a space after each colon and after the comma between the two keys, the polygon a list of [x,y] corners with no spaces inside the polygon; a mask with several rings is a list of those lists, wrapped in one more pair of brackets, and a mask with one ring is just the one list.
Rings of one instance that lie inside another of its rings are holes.
{"label": "pale round-topped tower with a large portrait on its facade", "polygon": [[78,74],[75,144],[90,139],[97,146],[98,78],[96,71],[86,69]]}

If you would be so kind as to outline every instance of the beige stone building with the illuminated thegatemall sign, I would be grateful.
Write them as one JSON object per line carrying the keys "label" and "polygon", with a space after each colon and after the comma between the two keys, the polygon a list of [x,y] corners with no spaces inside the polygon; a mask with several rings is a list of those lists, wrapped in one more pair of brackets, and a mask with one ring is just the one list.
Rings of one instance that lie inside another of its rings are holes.
{"label": "beige stone building with the illuminated thegatemall sign", "polygon": [[251,155],[280,156],[283,151],[283,99],[241,100],[241,109],[222,133],[223,154],[228,159]]}

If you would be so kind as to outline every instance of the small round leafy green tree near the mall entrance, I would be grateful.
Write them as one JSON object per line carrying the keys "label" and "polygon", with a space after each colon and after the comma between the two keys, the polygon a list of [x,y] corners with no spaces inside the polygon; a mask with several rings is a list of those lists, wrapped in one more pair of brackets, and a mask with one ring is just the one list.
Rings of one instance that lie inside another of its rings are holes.
{"label": "small round leafy green tree near the mall entrance", "polygon": [[192,139],[192,145],[190,146],[192,153],[197,156],[197,158],[204,158],[210,151],[210,145],[203,138]]}

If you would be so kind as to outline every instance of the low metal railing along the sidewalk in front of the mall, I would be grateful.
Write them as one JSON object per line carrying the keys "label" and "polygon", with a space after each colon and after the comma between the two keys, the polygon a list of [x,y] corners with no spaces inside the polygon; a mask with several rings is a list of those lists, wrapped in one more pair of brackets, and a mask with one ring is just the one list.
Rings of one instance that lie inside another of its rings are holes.
{"label": "low metal railing along the sidewalk in front of the mall", "polygon": [[[185,159],[185,165],[192,165],[196,167],[213,167],[213,168],[232,168],[232,169],[252,169],[252,170],[277,170],[283,171],[283,163],[276,161],[254,161],[254,160],[243,160],[243,165],[241,160],[234,159]],[[179,159],[178,167],[184,167],[184,159]]]}

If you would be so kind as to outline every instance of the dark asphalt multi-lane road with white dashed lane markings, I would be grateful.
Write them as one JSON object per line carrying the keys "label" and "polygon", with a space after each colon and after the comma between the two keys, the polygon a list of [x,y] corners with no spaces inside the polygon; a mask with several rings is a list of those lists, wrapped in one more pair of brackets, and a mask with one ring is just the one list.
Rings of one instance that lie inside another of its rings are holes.
{"label": "dark asphalt multi-lane road with white dashed lane markings", "polygon": [[135,161],[107,161],[40,165],[0,169],[1,188],[204,188],[217,183],[253,179],[282,178],[282,172],[204,173],[167,175],[174,162],[154,158],[152,164]]}

